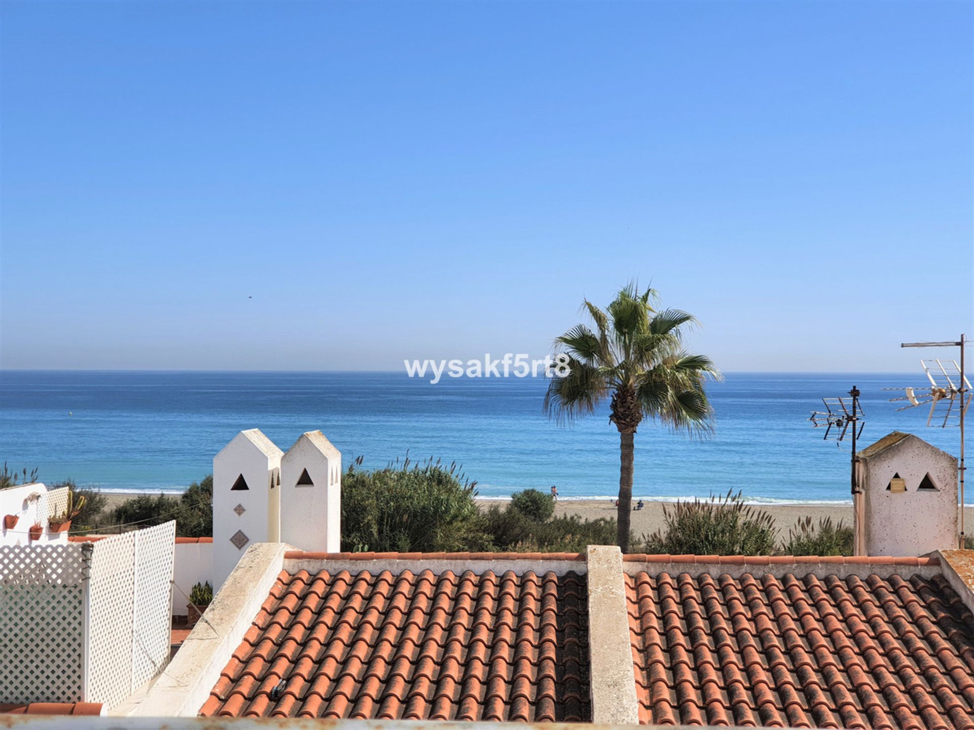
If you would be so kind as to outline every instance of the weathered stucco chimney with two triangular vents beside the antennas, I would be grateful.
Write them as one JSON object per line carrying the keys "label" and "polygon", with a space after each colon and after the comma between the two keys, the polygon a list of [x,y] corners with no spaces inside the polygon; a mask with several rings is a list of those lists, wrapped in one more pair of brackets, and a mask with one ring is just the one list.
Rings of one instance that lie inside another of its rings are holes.
{"label": "weathered stucco chimney with two triangular vents beside the antennas", "polygon": [[867,555],[923,555],[957,546],[954,456],[893,431],[859,452],[856,471]]}

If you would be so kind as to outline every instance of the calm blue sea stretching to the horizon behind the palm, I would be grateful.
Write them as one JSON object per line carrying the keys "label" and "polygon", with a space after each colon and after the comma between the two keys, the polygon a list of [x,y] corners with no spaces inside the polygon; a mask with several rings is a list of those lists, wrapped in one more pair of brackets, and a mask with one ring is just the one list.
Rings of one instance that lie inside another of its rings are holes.
{"label": "calm blue sea stretching to the horizon behind the palm", "polygon": [[[849,501],[849,440],[808,420],[823,396],[862,391],[860,448],[892,430],[959,450],[957,428],[897,412],[888,387],[917,374],[730,373],[709,385],[709,437],[647,420],[635,439],[633,493],[671,500],[741,492],[756,503]],[[320,429],[361,468],[427,458],[462,467],[480,496],[557,486],[562,499],[618,492],[618,431],[608,407],[570,425],[542,412],[543,378],[409,378],[405,373],[0,371],[0,460],[39,480],[123,493],[177,493],[212,469],[238,431],[286,451]],[[902,393],[899,393],[902,395]]]}

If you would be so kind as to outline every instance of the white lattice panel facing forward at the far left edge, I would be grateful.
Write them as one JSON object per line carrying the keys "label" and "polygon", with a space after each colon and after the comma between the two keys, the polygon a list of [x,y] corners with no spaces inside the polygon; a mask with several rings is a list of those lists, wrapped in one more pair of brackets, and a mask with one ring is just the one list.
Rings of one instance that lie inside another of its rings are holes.
{"label": "white lattice panel facing forward at the far left edge", "polygon": [[81,546],[0,547],[0,702],[82,697]]}

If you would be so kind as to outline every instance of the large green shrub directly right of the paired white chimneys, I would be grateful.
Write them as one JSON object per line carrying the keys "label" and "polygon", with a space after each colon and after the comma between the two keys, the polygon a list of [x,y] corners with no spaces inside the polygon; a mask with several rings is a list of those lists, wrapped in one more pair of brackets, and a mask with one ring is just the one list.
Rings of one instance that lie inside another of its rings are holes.
{"label": "large green shrub directly right of the paired white chimneys", "polygon": [[410,467],[407,457],[401,466],[371,472],[350,466],[342,478],[342,549],[486,549],[475,485],[456,464],[446,467],[432,459]]}

